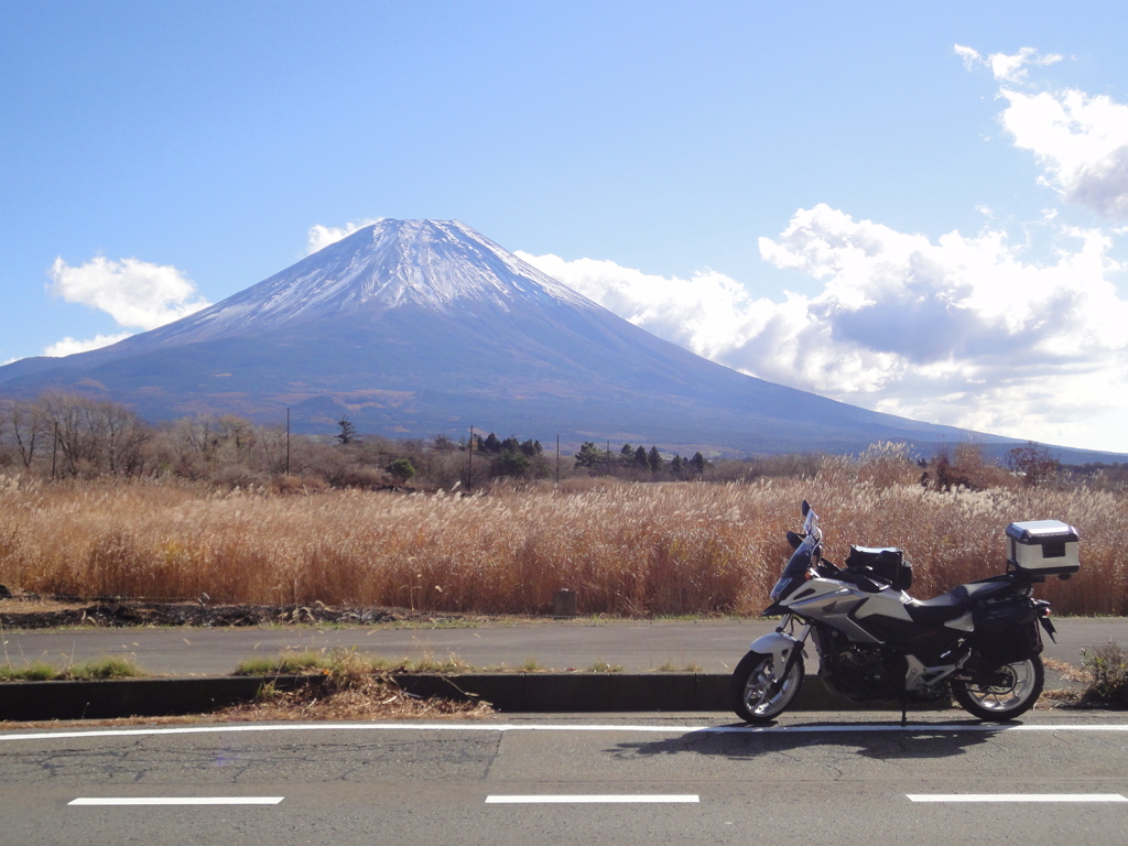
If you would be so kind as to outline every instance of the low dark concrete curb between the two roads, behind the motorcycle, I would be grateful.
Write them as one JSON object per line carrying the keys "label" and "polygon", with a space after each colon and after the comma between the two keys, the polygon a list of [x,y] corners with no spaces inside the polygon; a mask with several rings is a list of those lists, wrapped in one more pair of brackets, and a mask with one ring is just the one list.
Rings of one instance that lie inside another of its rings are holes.
{"label": "low dark concrete curb between the two roads, behind the motorcycle", "polygon": [[[404,690],[487,702],[505,713],[729,712],[729,676],[708,673],[466,673],[397,675]],[[107,720],[129,716],[208,714],[249,702],[265,682],[281,690],[318,685],[317,676],[210,676],[103,681],[12,681],[0,685],[0,720]],[[804,679],[793,711],[856,711],[896,704],[857,705],[827,690],[817,676]],[[916,710],[916,708],[915,708]]]}

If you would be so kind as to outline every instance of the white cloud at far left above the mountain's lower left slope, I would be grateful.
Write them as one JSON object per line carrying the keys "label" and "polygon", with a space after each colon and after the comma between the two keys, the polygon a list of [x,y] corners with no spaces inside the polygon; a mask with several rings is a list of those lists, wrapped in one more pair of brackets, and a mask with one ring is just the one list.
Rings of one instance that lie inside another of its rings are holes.
{"label": "white cloud at far left above the mountain's lower left slope", "polygon": [[[208,300],[184,273],[170,265],[136,258],[118,262],[97,256],[72,267],[61,257],[51,267],[50,290],[67,302],[78,302],[105,311],[125,329],[155,329],[206,308]],[[69,355],[95,350],[129,336],[98,335],[89,341],[64,338],[44,351],[45,355]]]}

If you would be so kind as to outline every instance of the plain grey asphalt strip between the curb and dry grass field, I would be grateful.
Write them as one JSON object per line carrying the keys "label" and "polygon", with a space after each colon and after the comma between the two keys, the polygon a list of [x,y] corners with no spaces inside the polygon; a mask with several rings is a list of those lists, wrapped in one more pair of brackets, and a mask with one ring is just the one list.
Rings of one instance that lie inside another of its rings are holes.
{"label": "plain grey asphalt strip between the curb and dry grass field", "polygon": [[[67,664],[87,658],[130,654],[157,675],[230,673],[254,655],[287,649],[358,649],[388,659],[447,660],[479,668],[527,661],[543,669],[584,670],[597,661],[628,672],[696,667],[729,672],[748,645],[775,624],[760,620],[607,622],[538,620],[466,628],[261,627],[261,628],[74,628],[61,632],[5,632],[3,655],[11,663],[46,660]],[[1128,647],[1128,619],[1058,619],[1058,643],[1046,655],[1079,664],[1081,652],[1118,641]]]}

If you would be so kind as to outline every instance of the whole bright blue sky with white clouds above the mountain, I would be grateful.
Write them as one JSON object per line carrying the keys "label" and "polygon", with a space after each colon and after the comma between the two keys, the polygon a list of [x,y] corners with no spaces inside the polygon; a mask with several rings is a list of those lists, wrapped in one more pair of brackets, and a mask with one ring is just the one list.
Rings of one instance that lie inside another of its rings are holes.
{"label": "whole bright blue sky with white clouds above the mountain", "polygon": [[1128,451],[1128,7],[793,6],[0,0],[0,362],[457,218],[730,367]]}

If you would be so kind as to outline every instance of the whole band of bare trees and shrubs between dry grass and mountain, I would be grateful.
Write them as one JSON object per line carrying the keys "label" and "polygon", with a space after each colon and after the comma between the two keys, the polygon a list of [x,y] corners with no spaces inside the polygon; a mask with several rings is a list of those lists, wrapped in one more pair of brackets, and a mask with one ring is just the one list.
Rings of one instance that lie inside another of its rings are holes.
{"label": "whole band of bare trees and shrubs between dry grass and mountain", "polygon": [[[907,448],[881,461],[863,455],[860,466],[882,466],[891,477],[934,490],[1022,485],[1085,485],[1122,490],[1128,464],[1059,465],[1038,444],[988,459],[977,444],[958,444],[931,459]],[[361,434],[342,417],[324,434],[289,434],[282,424],[261,425],[231,414],[199,414],[157,425],[132,409],[69,394],[34,400],[0,398],[0,473],[44,478],[168,476],[224,486],[272,486],[316,491],[478,490],[492,479],[555,481],[614,476],[631,482],[705,479],[740,482],[761,477],[812,478],[826,457],[758,456],[707,460],[663,453],[656,446],[624,443],[614,449],[592,441],[563,459],[540,441],[472,433],[451,440],[393,440]],[[885,470],[883,470],[884,473]]]}

